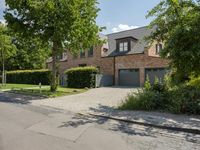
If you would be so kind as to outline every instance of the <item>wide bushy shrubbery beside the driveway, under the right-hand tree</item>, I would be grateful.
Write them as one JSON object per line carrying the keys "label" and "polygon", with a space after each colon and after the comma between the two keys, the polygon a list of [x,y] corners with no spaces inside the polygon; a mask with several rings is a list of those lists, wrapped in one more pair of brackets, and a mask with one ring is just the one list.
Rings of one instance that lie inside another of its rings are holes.
{"label": "wide bushy shrubbery beside the driveway, under the right-hand tree", "polygon": [[200,90],[186,84],[171,89],[166,88],[165,84],[154,84],[150,90],[129,94],[119,108],[200,114]]}

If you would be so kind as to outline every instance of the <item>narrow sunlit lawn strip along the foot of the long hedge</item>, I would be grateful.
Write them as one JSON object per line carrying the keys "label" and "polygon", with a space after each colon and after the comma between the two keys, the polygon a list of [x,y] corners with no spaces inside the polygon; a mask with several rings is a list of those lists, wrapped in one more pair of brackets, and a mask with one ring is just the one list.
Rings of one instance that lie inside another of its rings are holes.
{"label": "narrow sunlit lawn strip along the foot of the long hedge", "polygon": [[0,91],[7,89],[20,89],[20,88],[32,88],[32,87],[39,87],[39,86],[30,84],[6,84],[6,86],[2,86],[2,84],[0,84]]}

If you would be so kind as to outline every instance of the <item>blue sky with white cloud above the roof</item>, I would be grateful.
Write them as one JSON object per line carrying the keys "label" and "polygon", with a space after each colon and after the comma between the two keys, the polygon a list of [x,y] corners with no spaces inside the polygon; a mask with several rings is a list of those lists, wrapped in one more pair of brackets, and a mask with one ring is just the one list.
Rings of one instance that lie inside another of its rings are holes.
{"label": "blue sky with white cloud above the roof", "polygon": [[[5,0],[0,0],[0,20],[3,20]],[[118,32],[148,25],[147,11],[160,0],[98,0],[101,11],[97,18],[100,26],[106,26],[104,33]]]}

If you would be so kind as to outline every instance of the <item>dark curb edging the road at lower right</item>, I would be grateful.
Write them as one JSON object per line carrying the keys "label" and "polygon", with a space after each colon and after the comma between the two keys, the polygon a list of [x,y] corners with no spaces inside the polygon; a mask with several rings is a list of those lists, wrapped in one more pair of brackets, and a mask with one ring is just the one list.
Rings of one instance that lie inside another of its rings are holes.
{"label": "dark curb edging the road at lower right", "polygon": [[198,129],[162,126],[162,125],[156,125],[156,124],[151,124],[151,123],[120,119],[120,118],[116,118],[116,117],[110,117],[110,116],[105,116],[105,115],[97,115],[97,114],[91,114],[91,113],[88,113],[88,114],[79,113],[79,114],[83,115],[83,116],[90,115],[90,116],[93,116],[93,117],[100,117],[100,118],[106,118],[106,119],[111,119],[111,120],[115,120],[115,121],[121,121],[121,122],[125,122],[125,123],[132,123],[132,124],[142,125],[142,126],[146,126],[146,127],[154,127],[154,128],[158,128],[158,129],[165,129],[165,130],[172,130],[172,131],[178,131],[178,132],[185,132],[185,133],[192,133],[192,134],[200,135],[200,130],[198,130]]}

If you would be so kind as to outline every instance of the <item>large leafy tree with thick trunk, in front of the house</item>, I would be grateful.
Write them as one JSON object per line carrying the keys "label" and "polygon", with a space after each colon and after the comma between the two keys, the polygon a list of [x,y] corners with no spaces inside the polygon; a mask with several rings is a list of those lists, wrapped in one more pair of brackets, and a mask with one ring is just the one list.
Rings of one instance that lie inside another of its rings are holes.
{"label": "large leafy tree with thick trunk, in front of the house", "polygon": [[8,27],[21,37],[40,38],[52,48],[51,91],[57,89],[56,56],[66,48],[72,53],[99,42],[97,0],[6,0]]}

